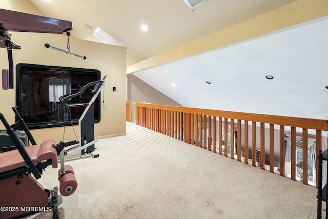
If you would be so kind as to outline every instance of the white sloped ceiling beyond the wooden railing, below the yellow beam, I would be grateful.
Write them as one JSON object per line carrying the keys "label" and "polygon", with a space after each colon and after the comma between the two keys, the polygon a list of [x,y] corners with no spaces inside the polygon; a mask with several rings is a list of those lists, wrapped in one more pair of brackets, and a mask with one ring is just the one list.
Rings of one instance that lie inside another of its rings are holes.
{"label": "white sloped ceiling beyond the wooden railing, below the yellow beam", "polygon": [[326,120],[327,39],[324,17],[134,75],[185,107]]}

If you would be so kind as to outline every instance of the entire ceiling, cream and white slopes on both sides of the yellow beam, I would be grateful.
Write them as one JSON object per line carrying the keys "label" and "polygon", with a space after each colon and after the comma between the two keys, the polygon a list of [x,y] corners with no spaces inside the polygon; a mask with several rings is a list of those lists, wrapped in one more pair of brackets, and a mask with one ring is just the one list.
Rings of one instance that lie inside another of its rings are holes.
{"label": "entire ceiling, cream and white slopes on both sides of the yellow beam", "polygon": [[[30,0],[73,22],[71,37],[99,42],[92,33],[105,30],[129,48],[127,66],[294,1],[213,0],[192,12],[183,0]],[[327,38],[325,18],[134,75],[186,107],[326,120]]]}

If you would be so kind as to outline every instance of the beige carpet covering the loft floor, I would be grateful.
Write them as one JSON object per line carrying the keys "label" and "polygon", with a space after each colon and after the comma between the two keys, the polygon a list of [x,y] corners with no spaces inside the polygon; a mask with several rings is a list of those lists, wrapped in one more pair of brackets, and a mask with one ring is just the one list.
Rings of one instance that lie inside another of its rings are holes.
{"label": "beige carpet covering the loft floor", "polygon": [[[66,162],[78,188],[59,197],[59,218],[316,218],[316,188],[132,123],[96,148]],[[39,182],[57,186],[57,171]]]}

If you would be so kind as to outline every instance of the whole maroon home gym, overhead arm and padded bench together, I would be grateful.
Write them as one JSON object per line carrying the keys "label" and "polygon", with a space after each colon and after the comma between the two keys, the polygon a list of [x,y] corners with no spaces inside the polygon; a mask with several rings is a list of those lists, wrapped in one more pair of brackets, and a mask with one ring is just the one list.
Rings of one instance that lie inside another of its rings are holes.
{"label": "whole maroon home gym, overhead arm and padded bench together", "polygon": [[[8,31],[63,33],[72,30],[72,22],[0,9],[0,48],[7,49],[9,69],[2,70],[2,87],[13,89],[14,72],[12,49],[20,46],[11,41]],[[24,21],[24,22],[22,22]],[[58,218],[58,187],[45,189],[37,180],[48,166],[58,167],[56,143],[48,140],[37,145],[16,107],[12,108],[18,122],[9,125],[0,113],[0,120],[6,128],[14,149],[0,153],[0,218],[23,217],[25,215],[53,209],[53,218]],[[16,130],[23,129],[32,146],[25,147],[19,140]],[[77,188],[73,168],[60,160],[58,171],[59,192],[71,195]]]}

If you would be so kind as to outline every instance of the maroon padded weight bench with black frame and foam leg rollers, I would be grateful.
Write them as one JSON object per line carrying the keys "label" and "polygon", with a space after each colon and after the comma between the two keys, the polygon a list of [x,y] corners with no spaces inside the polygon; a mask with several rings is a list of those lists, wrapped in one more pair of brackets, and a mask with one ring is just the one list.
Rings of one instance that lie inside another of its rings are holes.
{"label": "maroon padded weight bench with black frame and foam leg rollers", "polygon": [[[0,120],[5,126],[14,150],[0,153],[0,218],[23,217],[32,213],[51,211],[53,218],[58,218],[58,187],[45,189],[37,180],[48,166],[58,167],[56,143],[48,140],[37,145],[16,107],[12,108],[18,122],[9,125],[0,113]],[[32,146],[25,147],[15,134],[23,129]],[[77,188],[74,170],[60,160],[58,171],[59,192],[63,196],[71,195]]]}

